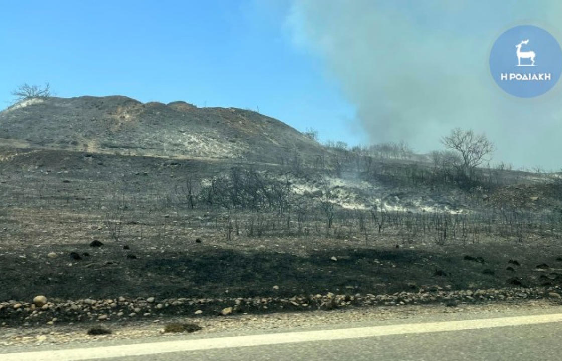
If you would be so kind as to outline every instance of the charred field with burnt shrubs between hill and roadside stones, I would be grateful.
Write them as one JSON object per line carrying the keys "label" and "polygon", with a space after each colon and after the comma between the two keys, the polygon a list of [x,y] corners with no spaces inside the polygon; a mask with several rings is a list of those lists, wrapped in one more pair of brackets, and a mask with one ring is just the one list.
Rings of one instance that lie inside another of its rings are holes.
{"label": "charred field with burnt shrubs between hill and roadside stones", "polygon": [[264,161],[6,142],[0,300],[544,284],[562,254],[560,177],[488,166],[485,137],[449,137],[420,155],[309,130],[306,152]]}

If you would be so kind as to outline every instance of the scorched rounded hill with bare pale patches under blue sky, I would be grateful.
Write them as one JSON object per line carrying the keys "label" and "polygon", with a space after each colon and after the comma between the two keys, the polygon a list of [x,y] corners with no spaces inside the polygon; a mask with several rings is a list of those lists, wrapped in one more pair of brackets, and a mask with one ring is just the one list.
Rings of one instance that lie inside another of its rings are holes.
{"label": "scorched rounded hill with bare pale patches under blue sky", "polygon": [[114,97],[31,98],[0,112],[0,138],[86,152],[277,161],[323,148],[274,118]]}

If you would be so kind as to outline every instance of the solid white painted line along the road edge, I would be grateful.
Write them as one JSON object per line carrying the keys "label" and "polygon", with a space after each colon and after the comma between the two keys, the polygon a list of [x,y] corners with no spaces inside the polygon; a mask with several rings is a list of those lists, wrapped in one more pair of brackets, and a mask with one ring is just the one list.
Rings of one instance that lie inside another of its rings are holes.
{"label": "solid white painted line along the road edge", "polygon": [[0,354],[2,361],[71,361],[91,360],[111,357],[151,355],[180,351],[223,349],[241,346],[287,344],[295,342],[356,339],[406,333],[429,333],[443,331],[474,330],[506,326],[534,325],[562,321],[562,313],[541,314],[537,316],[503,317],[490,319],[469,319],[464,321],[445,321],[412,323],[405,325],[338,328],[336,330],[268,333],[266,335],[216,337],[183,341],[151,342],[101,346],[81,349],[35,351],[25,353]]}

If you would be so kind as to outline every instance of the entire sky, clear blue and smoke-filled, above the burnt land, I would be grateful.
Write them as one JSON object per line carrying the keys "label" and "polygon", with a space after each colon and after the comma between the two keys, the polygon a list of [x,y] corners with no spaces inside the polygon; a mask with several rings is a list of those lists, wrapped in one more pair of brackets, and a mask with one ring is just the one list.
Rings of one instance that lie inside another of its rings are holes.
{"label": "entire sky, clear blue and smoke-filled, above the burnt land", "polygon": [[419,153],[461,127],[496,144],[492,163],[559,170],[562,85],[513,97],[488,57],[516,25],[560,42],[561,18],[557,0],[3,0],[0,107],[48,82],[60,97],[259,109],[320,140]]}

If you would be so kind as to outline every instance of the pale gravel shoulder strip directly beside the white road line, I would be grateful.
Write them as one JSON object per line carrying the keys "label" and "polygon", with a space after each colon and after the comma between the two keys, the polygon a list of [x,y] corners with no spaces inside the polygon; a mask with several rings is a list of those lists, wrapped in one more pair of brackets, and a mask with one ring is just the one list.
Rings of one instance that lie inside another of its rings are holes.
{"label": "pale gravel shoulder strip directly beside the white road line", "polygon": [[[218,332],[254,332],[260,330],[283,330],[284,328],[314,328],[315,326],[338,325],[342,323],[358,323],[384,321],[389,319],[409,319],[432,317],[439,314],[458,313],[470,314],[474,318],[499,317],[501,313],[535,311],[540,313],[560,312],[558,299],[540,299],[525,301],[494,301],[479,304],[460,303],[456,307],[444,304],[429,305],[393,305],[364,306],[333,310],[314,310],[310,312],[283,312],[269,314],[235,314],[229,317],[166,317],[158,319],[137,319],[126,325],[106,324],[110,335],[89,336],[88,328],[92,325],[53,325],[36,327],[2,327],[0,328],[0,348],[25,344],[46,345],[68,343],[93,344],[104,340],[135,340],[154,337],[155,339],[174,339],[182,337],[181,333],[164,333],[164,327],[170,322],[195,323],[201,326],[196,335]],[[450,315],[449,315],[450,316]],[[406,321],[407,322],[407,321]]]}

